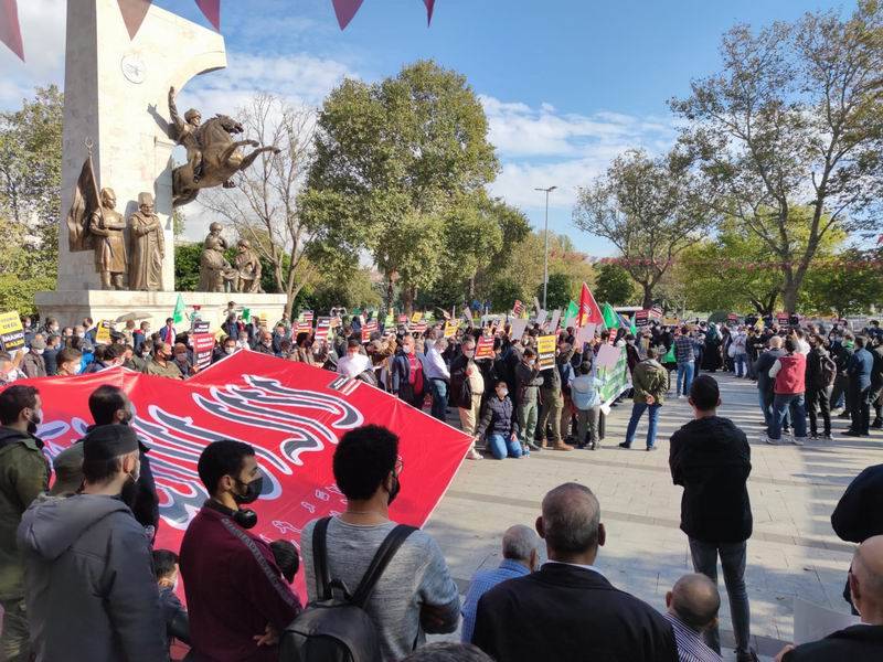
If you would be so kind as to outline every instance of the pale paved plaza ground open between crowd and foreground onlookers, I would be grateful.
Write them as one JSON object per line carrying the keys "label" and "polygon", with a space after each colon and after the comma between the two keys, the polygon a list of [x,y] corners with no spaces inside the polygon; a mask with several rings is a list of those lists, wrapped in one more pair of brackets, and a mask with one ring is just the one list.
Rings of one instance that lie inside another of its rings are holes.
{"label": "pale paved plaza ground open between crowd and foreground onlookers", "polygon": [[[853,545],[834,535],[830,514],[850,480],[883,461],[883,436],[840,437],[845,424],[839,420],[833,442],[802,448],[760,444],[755,385],[715,376],[723,399],[720,414],[742,427],[752,444],[754,535],[746,572],[752,634],[762,655],[773,656],[792,638],[796,596],[848,612],[841,592]],[[618,588],[664,609],[666,591],[692,572],[687,536],[679,528],[682,490],[672,484],[668,469],[668,439],[692,412],[685,399],[667,401],[657,436],[660,449],[646,452],[646,417],[632,449],[617,447],[630,409],[628,401],[613,409],[605,446],[595,452],[545,450],[521,460],[464,462],[426,526],[445,551],[461,590],[476,569],[499,563],[500,536],[509,525],[532,525],[543,494],[576,481],[592,488],[600,501],[607,544],[597,565]],[[722,577],[720,585],[726,643],[732,641],[732,626]]]}

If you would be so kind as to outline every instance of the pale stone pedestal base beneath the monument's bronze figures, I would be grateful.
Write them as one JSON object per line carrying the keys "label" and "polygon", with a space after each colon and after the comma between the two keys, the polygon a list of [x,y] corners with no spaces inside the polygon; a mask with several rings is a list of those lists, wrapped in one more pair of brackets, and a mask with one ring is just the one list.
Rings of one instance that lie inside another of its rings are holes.
{"label": "pale stone pedestal base beneath the monument's bronze figures", "polygon": [[[227,302],[235,301],[236,308],[248,308],[252,316],[265,318],[267,324],[275,324],[285,310],[285,295],[246,295],[238,292],[181,292],[187,313],[193,312],[193,305],[200,306],[200,317],[211,322],[212,332],[217,331],[225,319]],[[36,307],[41,319],[54,317],[62,327],[78,324],[84,317],[96,323],[100,320],[114,321],[134,312],[145,314],[151,328],[158,331],[172,316],[178,302],[178,292],[131,292],[123,290],[70,290],[38,292]],[[179,323],[180,330],[188,322]],[[121,325],[117,327],[121,329]]]}

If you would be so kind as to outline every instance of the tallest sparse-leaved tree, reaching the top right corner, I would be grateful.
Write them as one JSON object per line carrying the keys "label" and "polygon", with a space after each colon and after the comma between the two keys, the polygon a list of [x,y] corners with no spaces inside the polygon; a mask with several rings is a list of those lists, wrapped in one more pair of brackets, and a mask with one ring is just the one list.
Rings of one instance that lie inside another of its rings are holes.
{"label": "tallest sparse-leaved tree, reaching the top right corner", "polygon": [[[779,263],[789,312],[828,233],[879,225],[864,212],[883,189],[881,25],[876,0],[845,19],[832,10],[757,33],[736,25],[723,38],[722,71],[671,103],[708,200]],[[802,238],[796,205],[810,209]]]}

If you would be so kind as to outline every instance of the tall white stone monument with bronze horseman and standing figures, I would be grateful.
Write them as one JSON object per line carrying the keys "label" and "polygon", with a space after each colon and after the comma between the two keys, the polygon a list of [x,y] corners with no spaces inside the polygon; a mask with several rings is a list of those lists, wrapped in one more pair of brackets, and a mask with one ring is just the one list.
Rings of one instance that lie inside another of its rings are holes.
{"label": "tall white stone monument with bronze horseman and standing figures", "polygon": [[[192,145],[188,147],[181,135],[182,120],[173,107],[173,93],[192,77],[225,66],[223,36],[156,4],[150,6],[130,39],[116,0],[68,0],[58,280],[56,291],[36,295],[43,317],[54,316],[70,323],[86,316],[114,320],[137,310],[150,313],[155,328],[169,317],[178,298],[173,202],[189,202],[199,189],[224,183],[251,164],[257,153],[274,149],[249,140],[234,141],[228,136],[237,130],[235,120],[219,116],[210,121],[225,129],[226,141],[222,145],[221,137],[215,136],[215,149],[206,150],[204,158],[200,154],[213,170],[196,163]],[[194,128],[200,128],[199,122]],[[175,169],[181,172],[173,177],[171,156],[177,142],[188,148],[188,162]],[[70,229],[64,222],[89,153],[86,143],[92,148],[96,191],[111,190],[115,194],[115,205],[102,196],[100,216],[105,220],[95,218],[94,249],[68,242]],[[258,149],[243,154],[238,148],[245,145]],[[217,179],[215,170],[222,168],[222,181],[206,179],[206,173]],[[148,197],[152,206],[145,213]],[[118,227],[119,214],[126,220],[125,229]],[[143,235],[149,238],[132,236],[140,232],[134,228],[145,227],[147,217],[152,218]],[[134,269],[140,256],[128,249],[125,275],[118,270],[120,256],[116,250],[120,232],[124,247],[143,245],[149,253],[145,256],[149,264],[141,261]],[[119,291],[123,288],[140,291]],[[217,291],[183,296],[188,305],[202,306],[203,317],[211,320],[220,320],[231,298]],[[237,303],[275,317],[281,314],[285,296],[251,295],[249,300]]]}

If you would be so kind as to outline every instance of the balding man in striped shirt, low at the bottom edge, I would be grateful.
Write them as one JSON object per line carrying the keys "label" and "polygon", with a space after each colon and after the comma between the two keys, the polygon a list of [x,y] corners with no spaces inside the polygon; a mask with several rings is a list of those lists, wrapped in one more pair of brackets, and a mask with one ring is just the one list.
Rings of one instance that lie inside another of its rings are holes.
{"label": "balding man in striped shirt, low at the bottom edge", "polygon": [[717,624],[721,594],[714,581],[699,573],[684,575],[666,594],[666,618],[674,631],[680,661],[721,662],[721,655],[702,638],[706,630]]}

